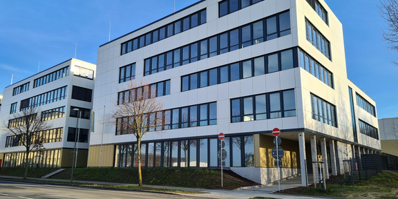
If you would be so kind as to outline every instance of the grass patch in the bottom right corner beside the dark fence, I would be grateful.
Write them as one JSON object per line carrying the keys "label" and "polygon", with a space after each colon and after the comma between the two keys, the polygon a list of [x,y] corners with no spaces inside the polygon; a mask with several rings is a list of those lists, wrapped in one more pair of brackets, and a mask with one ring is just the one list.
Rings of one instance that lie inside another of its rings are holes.
{"label": "grass patch in the bottom right corner beside the dark fence", "polygon": [[321,186],[296,187],[278,193],[307,196],[325,196],[331,198],[381,198],[398,199],[398,171],[383,171],[374,178],[354,186],[341,186],[339,178],[326,181],[327,190]]}

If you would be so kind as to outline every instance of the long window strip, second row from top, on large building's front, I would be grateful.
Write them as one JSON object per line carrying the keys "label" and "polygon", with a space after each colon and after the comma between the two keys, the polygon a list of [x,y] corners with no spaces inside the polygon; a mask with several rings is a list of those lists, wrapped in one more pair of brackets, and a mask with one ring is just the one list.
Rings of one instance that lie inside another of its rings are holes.
{"label": "long window strip, second row from top, on large building's front", "polygon": [[[274,26],[273,32],[269,32],[270,30],[267,29],[269,28],[268,26],[271,26],[271,23],[274,24],[272,25]],[[253,34],[252,31],[248,31],[248,28],[253,30]],[[187,46],[149,57],[144,61],[144,75],[159,73],[163,70],[169,70],[289,34],[290,11],[280,12],[272,17],[248,23],[234,30],[222,32],[216,36],[196,41]]]}

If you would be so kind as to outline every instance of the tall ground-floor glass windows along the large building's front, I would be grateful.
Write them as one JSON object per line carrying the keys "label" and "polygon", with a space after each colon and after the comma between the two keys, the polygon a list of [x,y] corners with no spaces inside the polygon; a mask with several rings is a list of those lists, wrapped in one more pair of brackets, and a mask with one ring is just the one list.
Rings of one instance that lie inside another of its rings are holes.
{"label": "tall ground-floor glass windows along the large building's front", "polygon": [[[223,142],[227,152],[225,167],[254,167],[253,135],[226,137]],[[135,143],[116,145],[115,167],[137,167],[135,147]],[[217,138],[144,142],[141,166],[218,168],[221,166],[218,151],[220,140]]]}

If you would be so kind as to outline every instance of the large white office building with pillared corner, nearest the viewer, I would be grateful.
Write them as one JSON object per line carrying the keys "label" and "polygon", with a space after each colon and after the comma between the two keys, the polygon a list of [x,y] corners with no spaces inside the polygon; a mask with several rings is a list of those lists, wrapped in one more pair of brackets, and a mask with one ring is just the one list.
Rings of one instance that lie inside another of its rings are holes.
{"label": "large white office building with pillared corner, nearest the viewer", "polygon": [[220,168],[225,133],[225,168],[267,184],[274,128],[282,177],[303,184],[312,161],[336,175],[380,150],[375,102],[347,78],[343,28],[323,0],[198,1],[103,44],[97,66],[88,167],[137,167],[127,118],[111,119],[138,91],[131,81],[156,89],[166,115],[143,138],[142,167]]}

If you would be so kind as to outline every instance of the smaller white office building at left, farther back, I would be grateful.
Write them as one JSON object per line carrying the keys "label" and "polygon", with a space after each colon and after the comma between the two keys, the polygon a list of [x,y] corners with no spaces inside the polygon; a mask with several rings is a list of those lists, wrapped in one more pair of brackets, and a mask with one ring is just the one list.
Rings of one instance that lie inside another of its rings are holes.
{"label": "smaller white office building at left, farther back", "polygon": [[86,167],[94,79],[94,64],[69,59],[6,87],[0,113],[2,167],[21,167],[25,162],[26,147],[7,128],[21,125],[16,115],[30,108],[36,108],[41,120],[50,124],[50,129],[39,134],[44,138],[44,151],[33,150],[30,165],[71,167],[77,133],[77,167]]}

